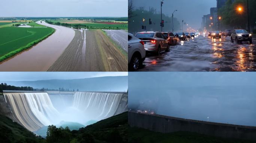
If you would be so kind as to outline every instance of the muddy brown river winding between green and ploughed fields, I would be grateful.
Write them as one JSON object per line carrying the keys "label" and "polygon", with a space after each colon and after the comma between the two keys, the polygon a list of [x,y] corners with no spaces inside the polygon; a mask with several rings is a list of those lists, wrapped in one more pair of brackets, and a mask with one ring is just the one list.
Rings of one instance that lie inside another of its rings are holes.
{"label": "muddy brown river winding between green and ploughed fields", "polygon": [[71,28],[45,22],[39,24],[56,31],[28,50],[0,62],[0,71],[47,71],[74,38],[75,32]]}

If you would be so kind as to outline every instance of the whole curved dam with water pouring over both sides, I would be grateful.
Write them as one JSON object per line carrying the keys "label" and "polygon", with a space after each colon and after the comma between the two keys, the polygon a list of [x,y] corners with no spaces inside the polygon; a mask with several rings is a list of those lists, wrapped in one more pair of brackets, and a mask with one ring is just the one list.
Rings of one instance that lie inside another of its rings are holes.
{"label": "whole curved dam with water pouring over both sides", "polygon": [[126,92],[4,90],[2,99],[10,107],[8,117],[30,131],[62,121],[86,126],[128,109]]}

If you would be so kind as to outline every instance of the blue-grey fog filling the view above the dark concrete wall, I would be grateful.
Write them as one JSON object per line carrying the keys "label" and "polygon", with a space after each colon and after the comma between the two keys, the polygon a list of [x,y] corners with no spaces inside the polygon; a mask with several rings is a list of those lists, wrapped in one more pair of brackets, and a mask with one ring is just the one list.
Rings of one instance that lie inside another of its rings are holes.
{"label": "blue-grey fog filling the view above the dark concrete wall", "polygon": [[241,72],[129,73],[128,107],[172,117],[256,126],[255,79],[255,73]]}

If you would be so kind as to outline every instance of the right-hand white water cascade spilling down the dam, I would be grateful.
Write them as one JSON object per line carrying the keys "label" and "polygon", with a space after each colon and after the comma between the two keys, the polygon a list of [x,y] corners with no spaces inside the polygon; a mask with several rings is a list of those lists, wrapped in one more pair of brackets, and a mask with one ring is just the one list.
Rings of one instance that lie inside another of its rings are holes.
{"label": "right-hand white water cascade spilling down the dam", "polygon": [[76,92],[73,107],[89,115],[91,120],[102,120],[115,114],[122,95],[122,93]]}

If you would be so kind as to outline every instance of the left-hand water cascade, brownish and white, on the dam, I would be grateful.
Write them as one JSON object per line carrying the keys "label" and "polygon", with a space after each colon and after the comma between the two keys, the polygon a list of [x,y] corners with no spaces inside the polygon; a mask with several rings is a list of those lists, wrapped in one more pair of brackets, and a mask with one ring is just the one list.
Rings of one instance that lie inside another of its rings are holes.
{"label": "left-hand water cascade, brownish and white, on the dam", "polygon": [[4,93],[4,98],[12,109],[13,120],[30,131],[59,122],[59,112],[46,92]]}

